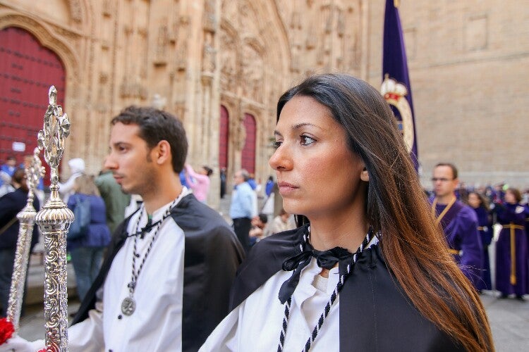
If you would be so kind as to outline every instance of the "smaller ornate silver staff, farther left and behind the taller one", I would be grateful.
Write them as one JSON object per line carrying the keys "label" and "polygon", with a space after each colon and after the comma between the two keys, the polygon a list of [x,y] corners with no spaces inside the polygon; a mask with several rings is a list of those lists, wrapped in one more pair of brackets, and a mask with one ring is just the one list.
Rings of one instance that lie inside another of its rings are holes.
{"label": "smaller ornate silver staff, farther left and behind the taller one", "polygon": [[20,222],[18,229],[18,240],[16,242],[15,262],[13,263],[13,276],[11,277],[11,291],[7,307],[7,318],[13,324],[15,334],[18,332],[20,310],[22,309],[22,297],[24,295],[25,277],[28,271],[28,260],[30,257],[31,238],[33,225],[35,225],[35,214],[37,210],[33,207],[35,198],[35,187],[44,176],[44,168],[39,159],[39,149],[33,150],[33,158],[30,165],[25,165],[26,183],[28,184],[28,203],[25,208],[16,215]]}

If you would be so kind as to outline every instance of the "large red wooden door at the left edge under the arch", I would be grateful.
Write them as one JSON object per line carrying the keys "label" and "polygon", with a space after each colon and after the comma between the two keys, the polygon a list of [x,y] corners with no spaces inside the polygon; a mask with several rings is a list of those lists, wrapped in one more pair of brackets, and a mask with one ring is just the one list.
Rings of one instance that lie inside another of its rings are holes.
{"label": "large red wooden door at the left edge under the arch", "polygon": [[[65,70],[59,57],[23,29],[0,30],[0,163],[13,155],[20,165],[33,153],[52,84],[61,103]],[[49,184],[49,170],[44,183]]]}

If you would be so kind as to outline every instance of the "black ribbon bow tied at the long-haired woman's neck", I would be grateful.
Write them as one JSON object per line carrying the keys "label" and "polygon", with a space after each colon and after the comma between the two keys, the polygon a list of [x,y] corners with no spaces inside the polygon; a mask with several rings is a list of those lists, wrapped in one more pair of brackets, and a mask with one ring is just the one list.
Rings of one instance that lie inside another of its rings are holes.
{"label": "black ribbon bow tied at the long-haired woman's neck", "polygon": [[[301,253],[287,258],[283,262],[283,270],[294,271],[292,276],[283,282],[279,289],[279,301],[281,301],[281,304],[284,304],[294,293],[294,290],[298,286],[301,270],[310,263],[312,257],[316,258],[316,263],[320,268],[330,270],[336,265],[336,263],[351,261],[353,259],[353,254],[349,253],[347,249],[341,247],[334,247],[327,251],[317,251],[310,245],[310,243],[305,242],[305,249],[303,249]],[[339,265],[340,274],[344,268],[345,265]]]}

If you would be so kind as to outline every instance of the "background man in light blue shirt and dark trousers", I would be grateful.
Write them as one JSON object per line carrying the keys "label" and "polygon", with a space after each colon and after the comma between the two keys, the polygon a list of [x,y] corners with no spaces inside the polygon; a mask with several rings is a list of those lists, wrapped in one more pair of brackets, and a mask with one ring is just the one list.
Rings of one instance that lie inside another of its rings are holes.
{"label": "background man in light blue shirt and dark trousers", "polygon": [[[250,239],[248,234],[252,227],[252,218],[257,215],[255,204],[257,197],[248,184],[250,174],[245,169],[238,170],[233,175],[233,183],[236,189],[231,193],[230,218],[233,220],[233,231],[248,253],[250,249]],[[254,199],[255,198],[255,199]]]}

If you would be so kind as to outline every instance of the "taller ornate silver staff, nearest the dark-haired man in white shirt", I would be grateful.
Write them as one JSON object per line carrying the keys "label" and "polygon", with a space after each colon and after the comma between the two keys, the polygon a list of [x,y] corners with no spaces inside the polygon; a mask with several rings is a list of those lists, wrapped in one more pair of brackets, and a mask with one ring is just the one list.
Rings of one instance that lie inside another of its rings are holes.
{"label": "taller ornate silver staff, nearest the dark-haired man in white shirt", "polygon": [[70,121],[57,105],[57,90],[49,88],[49,106],[44,127],[38,134],[39,149],[51,168],[51,195],[35,216],[44,235],[44,319],[47,351],[68,351],[68,294],[66,287],[66,233],[73,213],[59,198],[59,163]]}

